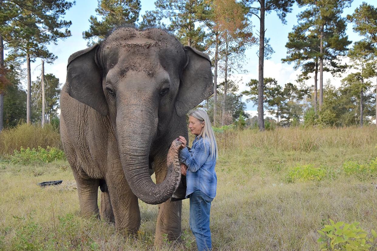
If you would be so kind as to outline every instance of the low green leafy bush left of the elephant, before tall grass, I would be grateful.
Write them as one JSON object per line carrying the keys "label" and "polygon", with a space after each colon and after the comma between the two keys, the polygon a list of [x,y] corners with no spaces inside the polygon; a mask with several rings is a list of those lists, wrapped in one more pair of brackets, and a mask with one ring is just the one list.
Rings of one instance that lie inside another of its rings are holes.
{"label": "low green leafy bush left of the elephant, before tall grass", "polygon": [[38,149],[21,147],[20,151],[14,150],[12,155],[5,157],[12,164],[50,163],[57,160],[65,160],[64,152],[54,147],[47,149],[38,146]]}

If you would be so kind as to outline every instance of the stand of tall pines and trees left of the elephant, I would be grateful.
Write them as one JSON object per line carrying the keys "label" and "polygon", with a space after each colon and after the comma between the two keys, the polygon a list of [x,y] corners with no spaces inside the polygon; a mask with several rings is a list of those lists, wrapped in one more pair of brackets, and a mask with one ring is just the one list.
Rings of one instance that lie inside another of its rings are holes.
{"label": "stand of tall pines and trees left of the elephant", "polygon": [[[57,58],[49,52],[46,45],[57,44],[59,39],[70,36],[68,27],[71,22],[62,20],[61,17],[73,4],[74,2],[65,0],[0,0],[0,131],[4,125],[11,126],[20,120],[26,120],[27,123],[42,121],[42,117],[46,116],[37,115],[38,108],[32,109],[32,99],[35,97],[32,96],[30,63],[37,58],[42,59],[42,64],[44,61],[52,63]],[[4,50],[8,50],[6,59]],[[26,62],[26,74],[21,74],[24,73],[20,69],[23,62]],[[21,101],[24,95],[20,86],[24,75],[27,80],[26,99]],[[45,80],[44,73],[40,78]],[[44,90],[41,91],[44,93]],[[54,93],[50,98],[56,95]],[[6,96],[19,100],[10,100]],[[19,107],[16,110],[8,102],[15,102],[14,105],[25,103],[26,109]],[[45,102],[42,106],[44,105]],[[57,109],[56,102],[52,106]],[[25,110],[26,116],[23,113]],[[51,115],[51,111],[47,115]]]}

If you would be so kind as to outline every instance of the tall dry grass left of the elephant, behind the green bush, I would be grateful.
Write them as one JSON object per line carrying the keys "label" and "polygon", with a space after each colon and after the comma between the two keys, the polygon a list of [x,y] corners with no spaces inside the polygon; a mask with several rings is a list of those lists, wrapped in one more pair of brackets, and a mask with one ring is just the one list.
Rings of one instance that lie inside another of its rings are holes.
{"label": "tall dry grass left of the elephant, behind the green bush", "polygon": [[15,128],[4,129],[0,132],[0,154],[11,154],[14,150],[23,148],[61,147],[60,134],[51,125],[44,127],[20,124]]}

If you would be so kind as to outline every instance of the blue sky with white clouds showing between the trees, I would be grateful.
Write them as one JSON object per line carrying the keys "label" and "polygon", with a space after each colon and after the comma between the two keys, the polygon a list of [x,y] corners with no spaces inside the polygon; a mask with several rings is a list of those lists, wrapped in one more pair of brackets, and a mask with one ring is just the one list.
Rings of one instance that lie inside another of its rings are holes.
{"label": "blue sky with white clouds showing between the trees", "polygon": [[[363,1],[354,0],[350,8],[345,9],[343,16],[351,14]],[[367,3],[373,4],[373,0],[365,1]],[[51,44],[48,46],[49,50],[58,56],[58,59],[51,65],[45,65],[45,72],[53,73],[60,79],[61,83],[65,82],[66,78],[66,64],[69,56],[78,51],[86,48],[87,41],[82,38],[82,32],[89,29],[89,17],[90,15],[95,15],[95,8],[97,8],[98,2],[96,0],[77,0],[76,5],[69,9],[66,13],[65,19],[72,21],[72,26],[70,30],[72,36],[66,38],[64,41],[58,41],[58,45]],[[141,0],[141,15],[144,14],[147,10],[154,9],[153,0]],[[282,24],[277,15],[274,12],[271,12],[266,16],[265,20],[265,29],[266,37],[270,38],[270,44],[273,47],[275,53],[271,56],[271,59],[265,60],[265,77],[276,78],[280,85],[284,85],[287,82],[295,83],[297,74],[299,71],[293,69],[293,65],[282,64],[281,59],[285,58],[287,55],[287,50],[285,44],[288,40],[288,33],[292,30],[293,26],[297,24],[296,15],[302,11],[298,6],[294,6],[293,12],[287,14],[287,24]],[[254,18],[251,20],[253,25],[254,33],[259,30],[259,20]],[[347,34],[349,40],[358,41],[361,39],[356,33],[352,31],[351,24],[347,26]],[[246,51],[246,61],[245,69],[248,70],[246,74],[234,75],[233,78],[239,81],[240,91],[246,90],[247,87],[245,83],[249,82],[250,79],[258,78],[258,57],[256,55],[258,48],[257,46],[251,47]],[[32,63],[32,79],[36,79],[40,75],[40,60]],[[334,78],[329,74],[324,75],[324,82],[327,79],[331,79],[332,84],[339,86],[341,78]],[[308,84],[311,84],[311,81]],[[244,98],[246,100],[246,97]],[[252,103],[247,103],[247,110],[250,114],[256,114],[256,107]]]}

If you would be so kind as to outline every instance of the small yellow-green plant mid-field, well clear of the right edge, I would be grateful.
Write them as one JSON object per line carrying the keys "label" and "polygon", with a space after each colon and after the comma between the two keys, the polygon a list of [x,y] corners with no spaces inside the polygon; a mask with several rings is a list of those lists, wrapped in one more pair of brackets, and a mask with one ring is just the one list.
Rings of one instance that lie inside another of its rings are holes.
{"label": "small yellow-green plant mid-field, well clear of the right edge", "polygon": [[312,164],[293,167],[288,173],[287,181],[310,181],[322,180],[326,176],[326,170],[321,167],[314,167]]}

